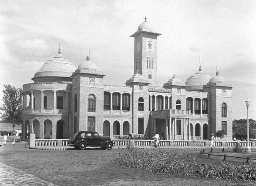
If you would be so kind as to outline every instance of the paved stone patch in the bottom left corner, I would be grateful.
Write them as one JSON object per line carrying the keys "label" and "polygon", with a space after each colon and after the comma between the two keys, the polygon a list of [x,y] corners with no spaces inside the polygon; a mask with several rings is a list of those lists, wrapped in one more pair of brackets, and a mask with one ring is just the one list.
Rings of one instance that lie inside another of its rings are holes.
{"label": "paved stone patch in the bottom left corner", "polygon": [[22,170],[0,163],[0,186],[56,186]]}

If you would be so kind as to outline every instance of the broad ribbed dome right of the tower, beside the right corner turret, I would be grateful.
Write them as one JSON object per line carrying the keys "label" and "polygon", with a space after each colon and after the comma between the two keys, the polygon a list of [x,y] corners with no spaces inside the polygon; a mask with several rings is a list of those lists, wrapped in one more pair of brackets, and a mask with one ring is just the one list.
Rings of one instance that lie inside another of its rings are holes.
{"label": "broad ribbed dome right of the tower, beside the right corner turret", "polygon": [[209,76],[206,73],[202,72],[201,65],[199,67],[199,71],[195,73],[194,75],[190,76],[186,82],[185,85],[187,86],[186,90],[203,90],[203,85],[206,85],[209,80],[211,79],[211,76]]}

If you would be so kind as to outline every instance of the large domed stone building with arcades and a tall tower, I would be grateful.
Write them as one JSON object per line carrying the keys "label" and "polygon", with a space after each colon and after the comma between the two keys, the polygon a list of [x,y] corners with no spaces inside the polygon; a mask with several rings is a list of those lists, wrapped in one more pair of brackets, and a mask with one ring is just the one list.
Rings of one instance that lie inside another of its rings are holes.
{"label": "large domed stone building with arcades and a tall tower", "polygon": [[175,75],[158,86],[157,37],[145,18],[134,37],[134,75],[126,86],[104,84],[87,57],[77,68],[61,54],[23,85],[23,136],[68,138],[78,130],[100,135],[138,133],[163,139],[202,140],[223,130],[232,139],[232,85],[216,72],[199,71],[184,82]]}

